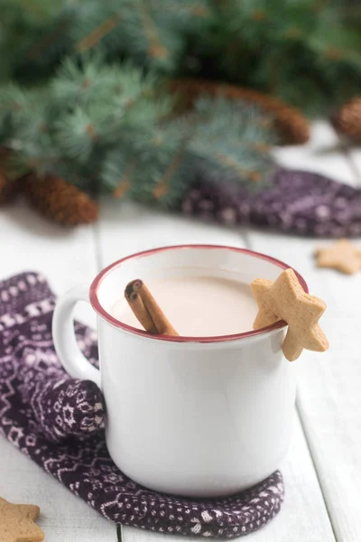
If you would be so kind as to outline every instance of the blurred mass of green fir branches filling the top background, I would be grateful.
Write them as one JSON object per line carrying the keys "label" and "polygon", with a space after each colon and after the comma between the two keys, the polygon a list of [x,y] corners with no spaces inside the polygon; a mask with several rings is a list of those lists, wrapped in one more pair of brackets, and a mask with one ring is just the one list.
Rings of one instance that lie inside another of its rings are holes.
{"label": "blurred mass of green fir branches filling the top background", "polygon": [[32,200],[63,216],[60,179],[61,193],[176,209],[199,176],[262,190],[272,145],[309,137],[292,107],[321,117],[361,95],[361,5],[2,0],[0,55],[4,193],[27,177]]}

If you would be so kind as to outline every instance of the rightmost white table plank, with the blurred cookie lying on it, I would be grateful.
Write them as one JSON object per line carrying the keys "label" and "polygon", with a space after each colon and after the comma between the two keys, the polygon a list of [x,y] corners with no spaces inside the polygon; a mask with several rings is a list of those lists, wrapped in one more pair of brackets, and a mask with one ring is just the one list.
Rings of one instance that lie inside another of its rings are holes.
{"label": "rightmost white table plank, with the blurred cookie lying on it", "polygon": [[[335,145],[338,153],[332,154],[332,160],[325,152],[313,151],[322,145],[327,147],[335,138],[330,126],[323,126],[321,134],[314,131],[310,154],[305,153],[303,160],[315,171],[356,185],[355,171],[347,162],[342,145]],[[342,276],[315,266],[315,248],[331,241],[249,232],[248,242],[250,248],[294,266],[308,282],[310,293],[328,304],[321,323],[331,347],[322,355],[304,352],[296,362],[298,408],[336,538],[342,542],[358,542],[361,539],[357,497],[361,484],[358,344],[361,275]],[[361,243],[358,246],[361,248]]]}

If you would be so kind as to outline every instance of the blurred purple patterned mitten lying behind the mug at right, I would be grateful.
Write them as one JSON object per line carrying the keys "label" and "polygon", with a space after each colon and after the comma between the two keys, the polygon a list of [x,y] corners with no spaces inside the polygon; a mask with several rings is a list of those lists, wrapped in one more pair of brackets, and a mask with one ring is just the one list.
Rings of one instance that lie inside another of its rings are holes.
{"label": "blurred purple patterned mitten lying behind the mug at right", "polygon": [[183,212],[224,224],[250,224],[312,237],[361,235],[361,190],[317,173],[279,168],[269,187],[250,193],[199,177]]}

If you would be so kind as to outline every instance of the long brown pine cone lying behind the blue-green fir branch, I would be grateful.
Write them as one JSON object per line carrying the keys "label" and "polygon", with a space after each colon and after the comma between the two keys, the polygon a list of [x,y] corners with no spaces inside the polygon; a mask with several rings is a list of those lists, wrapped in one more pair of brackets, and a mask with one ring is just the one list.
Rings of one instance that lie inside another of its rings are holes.
{"label": "long brown pine cone lying behind the blue-green fir branch", "polygon": [[184,97],[182,106],[186,109],[192,107],[194,100],[199,98],[200,94],[242,99],[256,104],[265,113],[271,113],[275,117],[275,128],[282,145],[301,145],[310,138],[310,126],[301,111],[267,94],[199,79],[175,79],[171,81],[171,90],[179,92]]}

